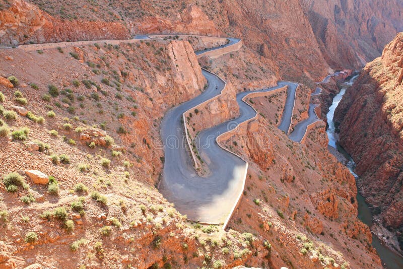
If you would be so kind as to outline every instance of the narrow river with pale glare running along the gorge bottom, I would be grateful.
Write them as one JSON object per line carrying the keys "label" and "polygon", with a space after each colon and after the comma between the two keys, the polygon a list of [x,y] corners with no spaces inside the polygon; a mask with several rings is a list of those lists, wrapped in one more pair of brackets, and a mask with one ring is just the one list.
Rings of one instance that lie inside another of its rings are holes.
{"label": "narrow river with pale glare running along the gorge bottom", "polygon": [[[338,143],[338,134],[335,132],[335,126],[333,122],[334,110],[339,105],[340,101],[342,100],[343,95],[346,93],[346,90],[349,86],[351,86],[357,76],[350,79],[346,86],[344,86],[340,93],[333,98],[333,103],[329,107],[329,112],[327,113],[327,122],[328,128],[326,130],[327,137],[329,138],[329,146],[337,149],[338,152],[343,154],[344,157],[347,159],[346,166],[349,168],[350,172],[354,175],[357,179],[357,174],[354,173],[354,169],[356,164],[351,156],[339,145]],[[361,194],[357,193],[357,202],[358,202],[358,218],[368,225],[368,227],[372,226],[372,213],[370,208],[368,207],[367,203],[365,203],[365,199]],[[401,269],[403,268],[403,257],[395,253],[394,251],[390,250],[388,247],[383,245],[379,238],[372,233],[372,246],[378,252],[379,257],[382,260],[382,264],[387,269]]]}

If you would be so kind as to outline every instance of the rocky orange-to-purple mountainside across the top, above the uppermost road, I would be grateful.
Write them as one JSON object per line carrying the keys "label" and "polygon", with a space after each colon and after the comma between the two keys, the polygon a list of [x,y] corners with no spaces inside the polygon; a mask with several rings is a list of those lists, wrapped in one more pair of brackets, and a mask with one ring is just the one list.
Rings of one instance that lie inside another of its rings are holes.
{"label": "rocky orange-to-purple mountainside across the top, above the uppermost road", "polygon": [[138,33],[235,36],[283,78],[307,84],[330,68],[363,66],[403,29],[397,0],[27,2],[0,2],[1,43],[126,39]]}

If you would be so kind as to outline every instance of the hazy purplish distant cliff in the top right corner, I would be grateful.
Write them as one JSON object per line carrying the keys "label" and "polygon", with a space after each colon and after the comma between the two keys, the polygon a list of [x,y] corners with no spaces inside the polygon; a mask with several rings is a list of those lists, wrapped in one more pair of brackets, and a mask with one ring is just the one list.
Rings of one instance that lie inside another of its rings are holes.
{"label": "hazy purplish distant cliff in the top right corner", "polygon": [[360,68],[403,30],[399,12],[403,3],[398,0],[300,2],[323,57],[333,68]]}

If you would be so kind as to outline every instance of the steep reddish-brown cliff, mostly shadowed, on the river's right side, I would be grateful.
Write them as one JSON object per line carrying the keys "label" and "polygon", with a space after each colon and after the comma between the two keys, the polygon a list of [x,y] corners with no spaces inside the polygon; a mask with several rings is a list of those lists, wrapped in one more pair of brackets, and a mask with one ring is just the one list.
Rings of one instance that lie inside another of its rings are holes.
{"label": "steep reddish-brown cliff, mostly shadowed, on the river's right side", "polygon": [[397,235],[403,229],[402,55],[403,34],[398,34],[365,66],[335,112],[340,143],[357,163],[363,196]]}

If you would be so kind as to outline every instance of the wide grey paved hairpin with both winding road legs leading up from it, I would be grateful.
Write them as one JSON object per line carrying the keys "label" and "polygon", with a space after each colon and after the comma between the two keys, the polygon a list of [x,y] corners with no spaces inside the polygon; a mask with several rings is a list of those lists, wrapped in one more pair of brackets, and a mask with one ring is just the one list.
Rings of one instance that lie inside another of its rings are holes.
{"label": "wide grey paved hairpin with both winding road legs leading up from it", "polygon": [[[175,208],[187,215],[188,219],[206,222],[223,223],[237,202],[242,191],[246,163],[236,155],[221,149],[216,138],[256,115],[255,110],[242,101],[250,92],[237,95],[240,116],[212,128],[203,130],[197,138],[197,148],[211,171],[208,177],[199,177],[195,173],[193,163],[186,151],[181,115],[195,105],[219,94],[224,82],[217,76],[203,71],[209,83],[207,90],[192,100],[170,110],[161,123],[161,135],[164,141],[165,163],[160,192],[175,204]],[[215,89],[218,85],[218,89]],[[260,90],[273,91],[288,85],[290,82],[279,82],[278,86]],[[256,92],[256,91],[254,91]],[[180,143],[179,143],[180,142]]]}

